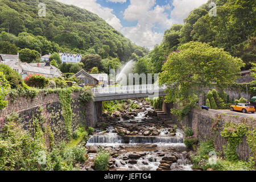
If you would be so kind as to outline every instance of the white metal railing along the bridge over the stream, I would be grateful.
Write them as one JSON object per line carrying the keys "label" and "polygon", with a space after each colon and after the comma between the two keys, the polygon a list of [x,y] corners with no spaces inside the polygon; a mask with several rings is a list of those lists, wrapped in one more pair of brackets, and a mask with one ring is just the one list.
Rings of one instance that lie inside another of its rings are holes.
{"label": "white metal railing along the bridge over the stream", "polygon": [[154,90],[165,89],[166,86],[159,87],[158,85],[126,85],[126,86],[108,86],[92,88],[93,94],[104,94],[104,93],[147,93]]}

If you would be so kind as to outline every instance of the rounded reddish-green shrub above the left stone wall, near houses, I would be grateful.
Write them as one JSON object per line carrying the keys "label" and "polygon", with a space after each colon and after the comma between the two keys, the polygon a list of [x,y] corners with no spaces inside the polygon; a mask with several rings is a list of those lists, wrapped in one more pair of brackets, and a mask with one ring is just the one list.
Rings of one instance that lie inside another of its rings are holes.
{"label": "rounded reddish-green shrub above the left stone wall, near houses", "polygon": [[28,86],[33,86],[35,88],[43,89],[46,85],[49,84],[49,80],[45,78],[43,75],[28,75],[24,78],[25,84]]}

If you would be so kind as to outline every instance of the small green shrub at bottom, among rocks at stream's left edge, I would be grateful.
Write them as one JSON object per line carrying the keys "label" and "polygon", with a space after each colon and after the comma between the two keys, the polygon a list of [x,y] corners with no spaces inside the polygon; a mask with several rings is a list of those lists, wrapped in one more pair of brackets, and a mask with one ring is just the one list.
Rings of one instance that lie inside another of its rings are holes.
{"label": "small green shrub at bottom, among rocks at stream's left edge", "polygon": [[109,163],[109,152],[101,150],[94,159],[94,167],[97,171],[106,171]]}

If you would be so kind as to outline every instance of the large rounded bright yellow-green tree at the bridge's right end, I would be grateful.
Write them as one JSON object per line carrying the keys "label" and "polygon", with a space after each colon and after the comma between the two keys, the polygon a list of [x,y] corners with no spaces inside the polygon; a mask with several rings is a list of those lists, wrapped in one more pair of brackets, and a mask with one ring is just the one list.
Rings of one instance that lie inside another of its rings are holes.
{"label": "large rounded bright yellow-green tree at the bridge's right end", "polygon": [[166,100],[170,102],[188,102],[193,94],[213,84],[225,88],[237,79],[245,65],[241,59],[207,43],[189,42],[178,49],[169,55],[159,77],[160,84],[168,86]]}

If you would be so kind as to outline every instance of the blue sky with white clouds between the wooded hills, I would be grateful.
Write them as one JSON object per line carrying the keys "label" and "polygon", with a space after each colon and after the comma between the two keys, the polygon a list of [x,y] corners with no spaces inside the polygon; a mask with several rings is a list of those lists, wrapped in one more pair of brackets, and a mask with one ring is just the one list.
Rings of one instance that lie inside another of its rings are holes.
{"label": "blue sky with white clouds between the wooded hills", "polygon": [[57,0],[97,14],[138,46],[154,48],[164,31],[183,24],[188,14],[208,0]]}

